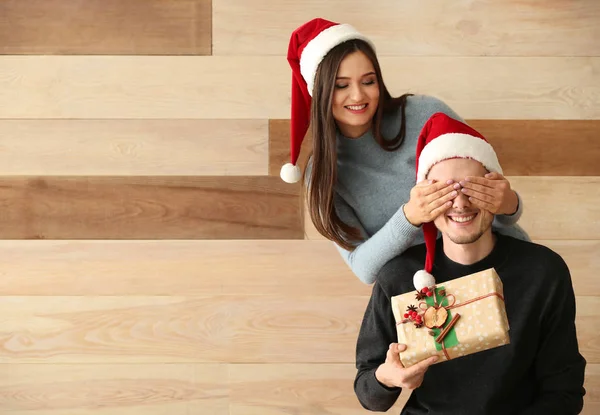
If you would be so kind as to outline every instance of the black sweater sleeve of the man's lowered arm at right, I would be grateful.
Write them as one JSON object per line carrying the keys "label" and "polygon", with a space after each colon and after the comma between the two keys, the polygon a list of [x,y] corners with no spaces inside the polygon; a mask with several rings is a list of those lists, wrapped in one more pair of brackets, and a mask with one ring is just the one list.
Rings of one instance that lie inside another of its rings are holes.
{"label": "black sweater sleeve of the man's lowered arm at right", "polygon": [[571,415],[583,408],[586,361],[579,353],[575,295],[569,270],[556,266],[560,279],[549,295],[542,318],[542,339],[535,361],[536,399],[521,415]]}

